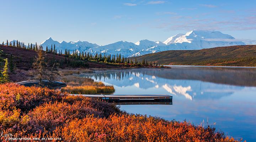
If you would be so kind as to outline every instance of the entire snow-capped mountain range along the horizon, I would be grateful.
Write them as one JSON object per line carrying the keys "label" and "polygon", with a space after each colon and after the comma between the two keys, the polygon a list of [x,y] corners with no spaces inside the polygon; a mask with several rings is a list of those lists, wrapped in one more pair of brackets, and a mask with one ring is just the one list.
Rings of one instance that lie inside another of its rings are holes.
{"label": "entire snow-capped mountain range along the horizon", "polygon": [[89,43],[86,41],[76,42],[61,42],[48,38],[39,45],[42,45],[44,49],[55,44],[57,50],[69,49],[84,51],[92,54],[121,54],[125,57],[141,56],[150,53],[156,53],[166,50],[199,50],[204,48],[213,47],[225,47],[231,45],[245,45],[244,42],[236,40],[234,37],[228,34],[223,34],[219,31],[201,31],[194,30],[187,32],[186,34],[176,34],[164,42],[150,41],[147,39],[140,40],[136,43],[119,41],[104,46],[99,46],[95,43]]}

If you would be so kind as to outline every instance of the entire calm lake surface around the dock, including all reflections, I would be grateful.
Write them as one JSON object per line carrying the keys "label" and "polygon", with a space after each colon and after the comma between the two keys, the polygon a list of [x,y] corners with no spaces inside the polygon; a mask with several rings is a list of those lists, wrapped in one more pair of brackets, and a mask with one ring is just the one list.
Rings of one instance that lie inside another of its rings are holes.
{"label": "entire calm lake surface around the dock, including all reflections", "polygon": [[121,105],[128,113],[214,125],[256,141],[256,69],[172,67],[97,71],[79,76],[112,84],[117,94],[169,94],[172,105]]}

